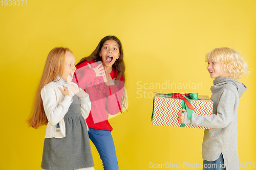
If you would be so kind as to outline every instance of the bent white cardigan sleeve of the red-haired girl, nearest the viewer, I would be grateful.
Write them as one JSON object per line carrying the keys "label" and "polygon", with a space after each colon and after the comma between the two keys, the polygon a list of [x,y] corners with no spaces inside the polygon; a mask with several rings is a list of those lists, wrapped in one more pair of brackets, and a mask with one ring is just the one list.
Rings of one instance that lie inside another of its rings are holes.
{"label": "bent white cardigan sleeve of the red-haired girl, nearest the viewer", "polygon": [[66,95],[64,100],[57,105],[56,93],[54,88],[50,85],[46,85],[41,90],[42,103],[46,112],[49,124],[56,125],[63,119],[65,114],[68,112],[73,99]]}

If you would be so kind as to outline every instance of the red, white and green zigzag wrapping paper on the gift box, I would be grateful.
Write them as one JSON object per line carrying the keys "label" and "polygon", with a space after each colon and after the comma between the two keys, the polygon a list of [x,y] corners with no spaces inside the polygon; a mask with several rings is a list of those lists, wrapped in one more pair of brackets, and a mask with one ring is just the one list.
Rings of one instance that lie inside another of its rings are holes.
{"label": "red, white and green zigzag wrapping paper on the gift box", "polygon": [[[194,110],[198,115],[211,115],[214,102],[211,100],[190,100]],[[182,109],[182,100],[176,98],[166,98],[164,95],[155,94],[153,104],[153,125],[180,127],[178,113]],[[203,126],[186,124],[186,128],[210,129]]]}

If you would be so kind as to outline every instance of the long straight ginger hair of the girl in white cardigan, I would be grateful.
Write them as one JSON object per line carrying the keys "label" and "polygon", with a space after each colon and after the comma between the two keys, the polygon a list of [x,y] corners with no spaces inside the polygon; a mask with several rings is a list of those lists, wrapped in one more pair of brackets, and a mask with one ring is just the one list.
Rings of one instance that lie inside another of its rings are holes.
{"label": "long straight ginger hair of the girl in white cardigan", "polygon": [[67,52],[71,52],[69,48],[55,47],[48,54],[45,68],[42,71],[41,80],[35,94],[33,110],[28,118],[29,127],[37,129],[40,126],[48,124],[44,105],[42,104],[41,90],[48,83],[54,81],[57,76],[62,76]]}

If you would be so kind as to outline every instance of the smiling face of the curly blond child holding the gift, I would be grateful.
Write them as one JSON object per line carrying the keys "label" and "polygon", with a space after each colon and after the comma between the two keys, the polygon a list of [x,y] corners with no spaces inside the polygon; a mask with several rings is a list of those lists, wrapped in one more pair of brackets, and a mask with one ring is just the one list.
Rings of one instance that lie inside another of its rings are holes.
{"label": "smiling face of the curly blond child holding the gift", "polygon": [[223,69],[223,65],[220,61],[212,61],[212,57],[208,59],[208,67],[207,67],[210,78],[216,79],[219,77],[226,77],[227,71]]}

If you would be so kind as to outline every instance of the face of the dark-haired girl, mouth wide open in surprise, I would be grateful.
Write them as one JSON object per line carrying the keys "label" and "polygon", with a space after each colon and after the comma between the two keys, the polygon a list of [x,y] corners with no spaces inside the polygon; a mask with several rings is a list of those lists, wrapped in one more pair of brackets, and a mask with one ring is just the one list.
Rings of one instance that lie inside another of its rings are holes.
{"label": "face of the dark-haired girl, mouth wide open in surprise", "polygon": [[115,40],[106,40],[99,52],[99,56],[102,57],[102,63],[109,71],[112,71],[112,65],[119,58],[119,45]]}

